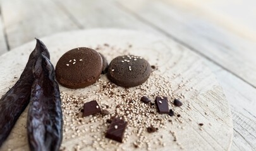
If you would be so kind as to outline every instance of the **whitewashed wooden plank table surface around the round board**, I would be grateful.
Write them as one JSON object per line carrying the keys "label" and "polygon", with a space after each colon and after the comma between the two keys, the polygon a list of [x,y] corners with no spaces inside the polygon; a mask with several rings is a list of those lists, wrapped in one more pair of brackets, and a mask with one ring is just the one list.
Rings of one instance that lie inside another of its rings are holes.
{"label": "whitewashed wooden plank table surface around the round board", "polygon": [[125,28],[198,53],[229,101],[231,150],[256,150],[256,1],[0,0],[0,55],[61,31]]}

